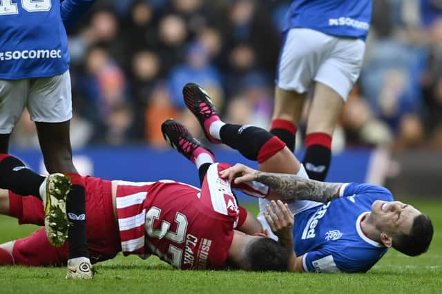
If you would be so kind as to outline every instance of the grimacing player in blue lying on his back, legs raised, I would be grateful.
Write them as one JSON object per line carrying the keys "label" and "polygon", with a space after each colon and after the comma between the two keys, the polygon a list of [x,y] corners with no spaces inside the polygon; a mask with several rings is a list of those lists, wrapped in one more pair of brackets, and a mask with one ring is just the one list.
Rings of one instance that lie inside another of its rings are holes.
{"label": "grimacing player in blue lying on his back, legs raised", "polygon": [[[263,227],[270,224],[273,231],[278,231],[281,225],[269,222],[269,218],[275,218],[266,213],[271,211],[269,199],[291,202],[289,208],[296,219],[294,244],[287,242],[292,238],[282,240],[294,249],[291,271],[366,272],[390,247],[410,256],[427,251],[433,235],[430,218],[412,205],[395,201],[389,190],[376,185],[309,180],[305,169],[279,138],[251,125],[223,123],[209,96],[198,85],[187,84],[183,94],[206,138],[258,161],[260,171],[235,165],[220,171],[220,175],[233,186],[249,185],[249,194],[260,198]],[[200,174],[211,166],[209,151],[180,123],[167,120],[163,133],[169,144],[195,162]],[[257,182],[261,185],[259,193],[252,189],[258,187]],[[283,219],[282,227],[287,227],[289,221]]]}

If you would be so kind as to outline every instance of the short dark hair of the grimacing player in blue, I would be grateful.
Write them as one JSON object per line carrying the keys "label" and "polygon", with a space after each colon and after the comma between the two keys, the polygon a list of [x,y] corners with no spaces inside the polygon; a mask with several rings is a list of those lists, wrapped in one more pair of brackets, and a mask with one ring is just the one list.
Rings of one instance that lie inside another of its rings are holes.
{"label": "short dark hair of the grimacing player in blue", "polygon": [[393,248],[409,256],[428,250],[433,238],[433,224],[428,216],[420,214],[413,220],[410,233],[393,235]]}

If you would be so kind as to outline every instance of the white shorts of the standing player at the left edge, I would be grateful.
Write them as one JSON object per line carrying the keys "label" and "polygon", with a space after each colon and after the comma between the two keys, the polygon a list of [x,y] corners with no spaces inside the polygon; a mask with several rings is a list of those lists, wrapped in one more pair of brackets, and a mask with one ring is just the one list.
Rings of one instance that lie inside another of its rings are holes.
{"label": "white shorts of the standing player at the left edge", "polygon": [[62,123],[72,118],[69,71],[47,78],[0,79],[0,134],[10,134],[24,107],[30,119]]}

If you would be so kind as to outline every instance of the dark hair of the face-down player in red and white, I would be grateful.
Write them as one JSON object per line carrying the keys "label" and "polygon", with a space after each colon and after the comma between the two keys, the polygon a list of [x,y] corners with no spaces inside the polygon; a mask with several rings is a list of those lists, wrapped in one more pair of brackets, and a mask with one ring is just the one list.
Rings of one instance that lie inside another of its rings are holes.
{"label": "dark hair of the face-down player in red and white", "polygon": [[287,271],[289,252],[271,238],[259,238],[249,244],[245,262],[250,271]]}

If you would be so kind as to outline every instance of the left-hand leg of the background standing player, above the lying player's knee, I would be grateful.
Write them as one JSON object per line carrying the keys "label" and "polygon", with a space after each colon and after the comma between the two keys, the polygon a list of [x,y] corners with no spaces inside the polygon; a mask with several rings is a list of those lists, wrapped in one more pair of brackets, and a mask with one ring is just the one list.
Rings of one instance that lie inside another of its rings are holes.
{"label": "left-hand leg of the background standing player, above the lying player's knee", "polygon": [[278,136],[292,152],[295,150],[296,131],[306,96],[307,93],[300,94],[275,87],[275,103],[270,132]]}

